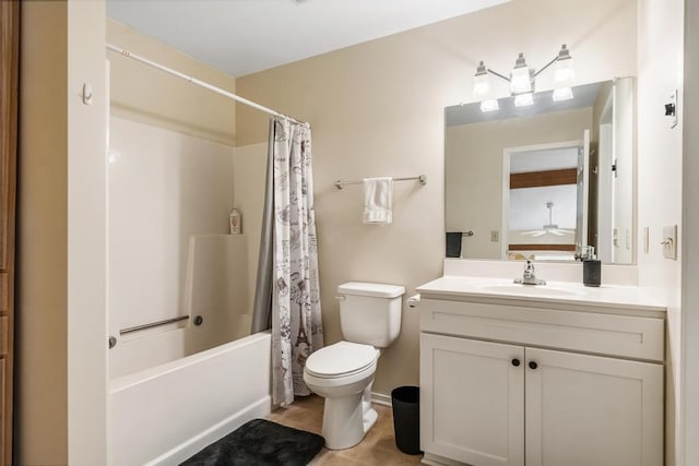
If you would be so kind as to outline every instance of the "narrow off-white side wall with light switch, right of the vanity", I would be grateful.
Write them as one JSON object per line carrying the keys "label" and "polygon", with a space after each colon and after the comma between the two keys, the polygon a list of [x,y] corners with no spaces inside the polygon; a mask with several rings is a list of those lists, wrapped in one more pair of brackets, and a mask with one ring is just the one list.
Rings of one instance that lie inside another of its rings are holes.
{"label": "narrow off-white side wall with light switch, right of the vanity", "polygon": [[[638,243],[643,228],[650,230],[650,250],[638,251],[639,285],[655,291],[667,302],[666,345],[666,464],[683,465],[684,422],[682,392],[680,306],[682,261],[664,259],[660,241],[664,225],[678,225],[682,231],[683,122],[670,128],[663,105],[670,93],[683,95],[684,1],[639,0],[638,39]],[[659,111],[657,108],[661,110]],[[682,109],[682,100],[680,106]],[[691,204],[690,204],[691,205]],[[679,258],[684,239],[678,240]],[[696,287],[690,277],[686,277]],[[686,282],[687,283],[687,282]],[[696,396],[696,394],[694,395]],[[695,439],[687,444],[696,443]],[[695,462],[696,463],[696,462]],[[686,463],[687,465],[695,463]]]}

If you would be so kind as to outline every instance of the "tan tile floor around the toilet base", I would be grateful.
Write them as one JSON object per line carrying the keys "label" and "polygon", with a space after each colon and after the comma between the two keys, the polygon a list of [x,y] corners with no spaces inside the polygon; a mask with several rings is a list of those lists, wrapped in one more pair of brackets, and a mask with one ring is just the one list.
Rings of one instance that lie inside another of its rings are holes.
{"label": "tan tile floor around the toilet base", "polygon": [[[374,408],[379,414],[379,419],[358,445],[340,451],[323,449],[310,465],[399,466],[420,464],[423,455],[406,455],[395,446],[391,408],[381,405],[374,405]],[[270,420],[320,434],[323,420],[323,398],[316,395],[296,397],[292,406],[279,408],[272,413]]]}

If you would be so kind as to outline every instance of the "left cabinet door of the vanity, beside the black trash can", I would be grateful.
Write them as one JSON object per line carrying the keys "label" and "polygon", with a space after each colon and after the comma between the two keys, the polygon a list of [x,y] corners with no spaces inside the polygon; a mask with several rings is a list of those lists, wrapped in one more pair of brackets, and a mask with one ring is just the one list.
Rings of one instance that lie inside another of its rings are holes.
{"label": "left cabinet door of the vanity, beside the black trash can", "polygon": [[420,446],[474,466],[524,464],[524,348],[420,334]]}

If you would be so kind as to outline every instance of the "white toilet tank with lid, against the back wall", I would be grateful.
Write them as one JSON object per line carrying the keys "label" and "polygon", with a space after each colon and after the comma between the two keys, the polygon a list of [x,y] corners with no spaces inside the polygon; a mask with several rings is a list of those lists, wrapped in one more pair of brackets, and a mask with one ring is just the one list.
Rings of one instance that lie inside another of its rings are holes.
{"label": "white toilet tank with lid, against the back wall", "polygon": [[350,282],[337,287],[340,325],[347,342],[388,347],[401,333],[402,296],[398,285]]}

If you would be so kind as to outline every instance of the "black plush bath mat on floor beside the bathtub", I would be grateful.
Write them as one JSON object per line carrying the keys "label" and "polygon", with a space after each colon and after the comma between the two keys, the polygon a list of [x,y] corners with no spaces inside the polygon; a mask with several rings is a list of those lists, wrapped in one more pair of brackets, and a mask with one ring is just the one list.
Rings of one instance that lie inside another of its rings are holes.
{"label": "black plush bath mat on floor beside the bathtub", "polygon": [[252,419],[180,466],[305,466],[324,439],[264,419]]}

